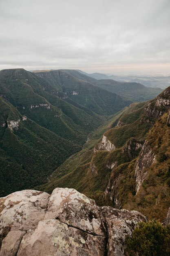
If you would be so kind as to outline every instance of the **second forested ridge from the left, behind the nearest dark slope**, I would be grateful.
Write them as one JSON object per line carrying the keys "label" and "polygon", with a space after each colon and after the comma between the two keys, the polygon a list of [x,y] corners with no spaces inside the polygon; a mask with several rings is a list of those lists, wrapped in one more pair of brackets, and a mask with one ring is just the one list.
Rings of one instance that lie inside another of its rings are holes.
{"label": "second forested ridge from the left, behind the nearest dark slope", "polygon": [[67,103],[66,94],[48,81],[23,69],[0,72],[0,95],[22,115],[81,145],[88,132],[102,122],[92,111]]}

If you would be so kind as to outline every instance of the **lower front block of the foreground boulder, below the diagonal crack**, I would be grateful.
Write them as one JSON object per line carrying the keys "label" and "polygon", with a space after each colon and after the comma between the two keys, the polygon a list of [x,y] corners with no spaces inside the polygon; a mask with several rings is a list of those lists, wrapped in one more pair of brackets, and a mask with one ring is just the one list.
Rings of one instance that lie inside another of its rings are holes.
{"label": "lower front block of the foreground boulder, below the diagonal crack", "polygon": [[104,255],[105,238],[93,236],[55,220],[40,221],[24,236],[17,256]]}

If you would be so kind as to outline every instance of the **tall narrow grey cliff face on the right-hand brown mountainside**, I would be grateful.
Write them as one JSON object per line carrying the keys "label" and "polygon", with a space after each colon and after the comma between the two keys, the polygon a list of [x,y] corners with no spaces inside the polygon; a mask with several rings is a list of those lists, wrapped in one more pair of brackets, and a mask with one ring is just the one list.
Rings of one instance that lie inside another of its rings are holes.
{"label": "tall narrow grey cliff face on the right-hand brown mountainside", "polygon": [[145,180],[146,168],[156,162],[156,155],[145,141],[135,165],[136,193],[139,191],[142,182]]}

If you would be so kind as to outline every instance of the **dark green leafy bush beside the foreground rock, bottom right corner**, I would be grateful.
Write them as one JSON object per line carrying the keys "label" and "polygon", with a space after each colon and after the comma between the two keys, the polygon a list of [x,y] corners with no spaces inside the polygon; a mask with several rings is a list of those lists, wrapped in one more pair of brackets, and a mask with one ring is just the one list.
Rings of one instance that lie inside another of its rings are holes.
{"label": "dark green leafy bush beside the foreground rock, bottom right corner", "polygon": [[170,226],[163,226],[153,220],[140,222],[126,237],[127,256],[168,256],[170,255]]}

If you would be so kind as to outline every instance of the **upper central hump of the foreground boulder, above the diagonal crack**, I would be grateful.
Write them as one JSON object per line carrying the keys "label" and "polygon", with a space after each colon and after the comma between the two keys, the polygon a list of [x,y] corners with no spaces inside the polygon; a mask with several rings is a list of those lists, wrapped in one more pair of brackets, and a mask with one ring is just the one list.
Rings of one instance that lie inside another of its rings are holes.
{"label": "upper central hump of the foreground boulder, above the diagonal crack", "polygon": [[104,236],[95,201],[75,189],[54,189],[44,219],[50,218],[58,218],[72,227]]}

